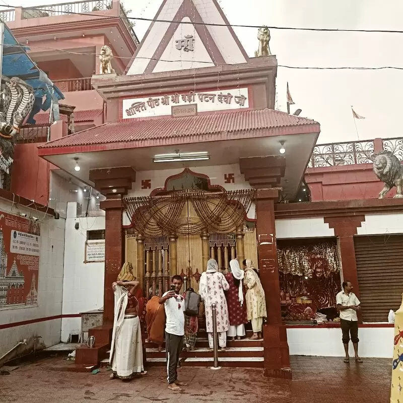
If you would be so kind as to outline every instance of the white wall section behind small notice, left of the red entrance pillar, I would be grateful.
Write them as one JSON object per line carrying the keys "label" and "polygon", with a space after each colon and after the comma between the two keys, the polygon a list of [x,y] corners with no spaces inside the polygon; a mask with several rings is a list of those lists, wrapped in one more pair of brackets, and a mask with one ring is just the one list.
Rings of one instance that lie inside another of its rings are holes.
{"label": "white wall section behind small notice, left of the red entrance pillar", "polygon": [[[63,278],[63,315],[79,315],[81,312],[103,307],[104,262],[84,263],[87,231],[105,229],[105,217],[76,217],[76,203],[69,203],[65,225],[65,253]],[[79,223],[79,229],[75,229]],[[63,317],[61,341],[69,334],[80,334],[81,317]]]}

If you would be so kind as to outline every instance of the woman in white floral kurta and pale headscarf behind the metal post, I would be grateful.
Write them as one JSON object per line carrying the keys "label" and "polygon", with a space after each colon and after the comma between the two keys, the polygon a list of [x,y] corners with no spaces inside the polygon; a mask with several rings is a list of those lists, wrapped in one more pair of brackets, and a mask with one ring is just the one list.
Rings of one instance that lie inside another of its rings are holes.
{"label": "woman in white floral kurta and pale headscarf behind the metal post", "polygon": [[201,274],[199,294],[205,302],[206,330],[209,347],[213,348],[213,310],[211,304],[217,304],[217,332],[221,350],[226,350],[227,330],[229,328],[227,300],[224,291],[230,288],[222,273],[218,272],[218,264],[214,259],[207,262],[207,271]]}

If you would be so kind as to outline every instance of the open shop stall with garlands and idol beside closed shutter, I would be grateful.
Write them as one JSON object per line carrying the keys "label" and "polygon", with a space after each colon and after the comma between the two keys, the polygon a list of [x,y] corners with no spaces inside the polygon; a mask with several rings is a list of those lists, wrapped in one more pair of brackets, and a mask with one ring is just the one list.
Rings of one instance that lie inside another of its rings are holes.
{"label": "open shop stall with garlands and idol beside closed shutter", "polygon": [[283,321],[338,324],[341,279],[336,240],[279,240],[278,260]]}

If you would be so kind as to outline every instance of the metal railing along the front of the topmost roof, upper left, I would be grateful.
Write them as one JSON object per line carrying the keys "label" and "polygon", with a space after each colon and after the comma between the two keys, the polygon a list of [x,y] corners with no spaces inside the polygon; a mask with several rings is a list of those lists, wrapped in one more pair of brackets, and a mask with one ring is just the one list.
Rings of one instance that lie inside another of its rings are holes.
{"label": "metal railing along the front of the topmost roof, upper left", "polygon": [[89,0],[84,2],[51,4],[23,9],[24,19],[38,17],[54,17],[66,14],[91,13],[94,11],[111,10],[111,0]]}

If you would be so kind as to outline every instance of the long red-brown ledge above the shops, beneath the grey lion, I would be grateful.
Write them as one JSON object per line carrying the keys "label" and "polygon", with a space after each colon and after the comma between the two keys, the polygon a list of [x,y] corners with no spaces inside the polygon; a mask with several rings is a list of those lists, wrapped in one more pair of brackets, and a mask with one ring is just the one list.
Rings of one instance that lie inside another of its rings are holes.
{"label": "long red-brown ledge above the shops, beneath the grey lion", "polygon": [[403,212],[403,198],[309,201],[275,205],[276,220],[308,217],[345,217]]}

